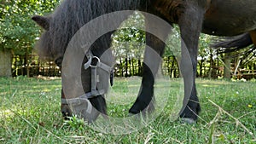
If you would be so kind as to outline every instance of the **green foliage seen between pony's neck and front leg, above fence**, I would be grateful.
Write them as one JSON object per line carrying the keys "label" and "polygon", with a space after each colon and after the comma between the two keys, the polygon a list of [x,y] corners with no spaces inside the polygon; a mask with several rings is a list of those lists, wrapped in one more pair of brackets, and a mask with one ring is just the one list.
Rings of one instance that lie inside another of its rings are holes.
{"label": "green foliage seen between pony's neck and front leg, above fence", "polygon": [[112,49],[117,58],[143,58],[146,34],[143,14],[132,14],[113,35]]}

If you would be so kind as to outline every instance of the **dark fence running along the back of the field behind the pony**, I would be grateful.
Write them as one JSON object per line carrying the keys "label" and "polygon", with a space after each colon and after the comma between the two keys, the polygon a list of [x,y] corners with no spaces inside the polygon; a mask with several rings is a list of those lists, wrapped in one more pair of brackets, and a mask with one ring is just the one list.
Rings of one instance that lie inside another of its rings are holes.
{"label": "dark fence running along the back of the field behind the pony", "polygon": [[[197,77],[200,78],[218,78],[224,75],[224,65],[218,59],[212,61],[213,65],[209,66],[210,61],[199,60],[197,66]],[[256,64],[250,65],[248,70],[247,66],[241,66],[236,69],[236,64],[231,64],[231,76],[236,78],[256,78]],[[113,68],[115,77],[132,77],[143,75],[143,60],[134,58],[121,58],[116,60]],[[174,56],[164,57],[161,63],[160,72],[164,76],[170,78],[180,77],[180,72],[177,60]],[[14,55],[12,62],[13,77],[17,76],[45,76],[45,77],[61,77],[61,68],[56,66],[53,61],[40,60],[38,55]]]}

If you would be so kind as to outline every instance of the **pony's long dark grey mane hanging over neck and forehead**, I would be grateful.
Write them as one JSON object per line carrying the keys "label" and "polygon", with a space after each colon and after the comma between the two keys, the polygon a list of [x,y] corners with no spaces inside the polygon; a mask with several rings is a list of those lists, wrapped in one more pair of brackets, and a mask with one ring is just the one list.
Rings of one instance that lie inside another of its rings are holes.
{"label": "pony's long dark grey mane hanging over neck and forehead", "polygon": [[90,20],[114,11],[139,9],[143,1],[146,0],[64,0],[48,16],[49,31],[40,38],[38,54],[54,60],[64,54],[73,35]]}

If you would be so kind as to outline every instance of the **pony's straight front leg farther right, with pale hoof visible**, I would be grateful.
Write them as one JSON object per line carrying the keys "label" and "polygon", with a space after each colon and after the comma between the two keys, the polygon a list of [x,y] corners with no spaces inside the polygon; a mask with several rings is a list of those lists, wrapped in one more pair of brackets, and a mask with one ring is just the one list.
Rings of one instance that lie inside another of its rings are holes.
{"label": "pony's straight front leg farther right, with pale hoof visible", "polygon": [[180,69],[184,82],[183,109],[180,118],[194,123],[201,111],[195,88],[198,41],[201,32],[204,8],[190,2],[178,21],[182,37],[182,59]]}

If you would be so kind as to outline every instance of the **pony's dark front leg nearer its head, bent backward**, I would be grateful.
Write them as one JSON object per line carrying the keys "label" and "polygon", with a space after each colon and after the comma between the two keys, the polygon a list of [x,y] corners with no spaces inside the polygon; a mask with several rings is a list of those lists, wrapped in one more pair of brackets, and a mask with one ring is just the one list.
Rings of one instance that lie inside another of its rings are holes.
{"label": "pony's dark front leg nearer its head, bent backward", "polygon": [[154,110],[154,76],[158,72],[160,57],[163,55],[166,46],[164,41],[171,31],[171,28],[166,30],[165,26],[161,27],[160,21],[147,19],[146,15],[145,18],[147,46],[143,60],[143,80],[137,100],[129,110],[131,114]]}

